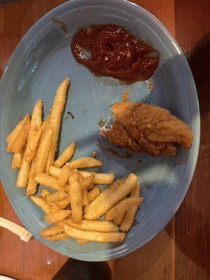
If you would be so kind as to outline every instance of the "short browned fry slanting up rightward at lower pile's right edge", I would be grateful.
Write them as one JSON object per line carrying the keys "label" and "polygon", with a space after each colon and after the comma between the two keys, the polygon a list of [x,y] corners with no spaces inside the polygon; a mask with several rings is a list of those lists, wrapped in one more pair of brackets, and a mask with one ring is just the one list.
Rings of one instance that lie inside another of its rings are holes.
{"label": "short browned fry slanting up rightward at lower pile's right edge", "polygon": [[109,211],[106,212],[105,220],[113,220],[123,211],[127,211],[128,209],[139,205],[139,203],[142,200],[143,199],[141,197],[128,197],[125,198],[125,200],[121,200],[118,204],[116,204],[114,207],[112,207],[111,209],[109,209]]}

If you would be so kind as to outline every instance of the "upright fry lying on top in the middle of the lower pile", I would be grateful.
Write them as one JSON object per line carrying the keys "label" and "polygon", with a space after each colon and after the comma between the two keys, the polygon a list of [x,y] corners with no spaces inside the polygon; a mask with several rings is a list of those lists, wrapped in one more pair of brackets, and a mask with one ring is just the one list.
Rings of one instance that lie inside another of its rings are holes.
{"label": "upright fry lying on top in the middle of the lower pile", "polygon": [[78,181],[78,171],[73,170],[69,178],[69,196],[71,201],[72,221],[80,223],[83,219],[83,193]]}

